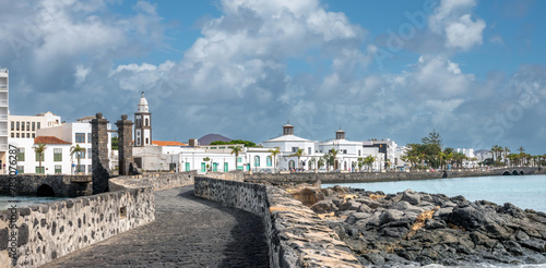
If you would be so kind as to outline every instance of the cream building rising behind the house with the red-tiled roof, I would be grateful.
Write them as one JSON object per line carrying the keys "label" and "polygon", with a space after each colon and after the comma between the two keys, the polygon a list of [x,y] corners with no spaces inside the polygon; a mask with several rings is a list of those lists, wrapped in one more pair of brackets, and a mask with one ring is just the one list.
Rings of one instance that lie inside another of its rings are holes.
{"label": "cream building rising behind the house with the red-tiled roof", "polygon": [[43,127],[61,125],[61,117],[50,111],[36,115],[9,115],[11,138],[35,138],[36,131]]}

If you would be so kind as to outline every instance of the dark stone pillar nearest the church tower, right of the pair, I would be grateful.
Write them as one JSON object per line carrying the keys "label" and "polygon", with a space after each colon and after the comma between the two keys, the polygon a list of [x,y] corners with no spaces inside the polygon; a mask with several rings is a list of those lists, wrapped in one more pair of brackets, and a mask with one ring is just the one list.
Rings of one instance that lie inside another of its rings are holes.
{"label": "dark stone pillar nearest the church tower, right of the pair", "polygon": [[118,126],[118,158],[119,175],[131,175],[131,163],[133,161],[132,131],[133,122],[127,120],[127,114],[121,115],[121,120],[116,122]]}

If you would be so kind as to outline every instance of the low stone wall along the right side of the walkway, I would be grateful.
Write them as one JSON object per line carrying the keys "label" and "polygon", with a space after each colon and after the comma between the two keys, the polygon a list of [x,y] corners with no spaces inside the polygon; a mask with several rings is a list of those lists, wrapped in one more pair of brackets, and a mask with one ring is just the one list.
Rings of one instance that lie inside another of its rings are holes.
{"label": "low stone wall along the right side of the walkway", "polygon": [[277,187],[195,176],[195,196],[263,217],[270,267],[360,267],[312,210]]}

